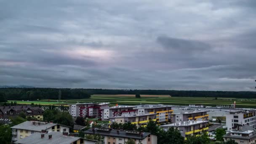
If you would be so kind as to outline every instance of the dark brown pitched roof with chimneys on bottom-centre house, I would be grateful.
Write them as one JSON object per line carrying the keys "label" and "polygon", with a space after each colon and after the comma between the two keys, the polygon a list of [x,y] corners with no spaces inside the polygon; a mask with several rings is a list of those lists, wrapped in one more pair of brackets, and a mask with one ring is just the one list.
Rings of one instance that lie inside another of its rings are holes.
{"label": "dark brown pitched roof with chimneys on bottom-centre house", "polygon": [[[84,131],[85,134],[100,134],[102,136],[115,136],[115,137],[123,137],[123,138],[131,138],[131,139],[145,139],[151,133],[142,132],[142,135],[138,131],[124,131],[124,130],[115,130],[104,128],[106,130],[99,130],[99,128],[95,128],[94,131],[92,128]],[[133,133],[134,132],[134,133]],[[138,132],[138,133],[135,133]]]}

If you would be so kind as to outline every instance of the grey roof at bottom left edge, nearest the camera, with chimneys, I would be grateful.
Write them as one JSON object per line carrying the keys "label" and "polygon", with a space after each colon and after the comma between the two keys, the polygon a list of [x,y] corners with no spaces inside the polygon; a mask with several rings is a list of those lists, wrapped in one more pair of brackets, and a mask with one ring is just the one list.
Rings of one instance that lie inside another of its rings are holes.
{"label": "grey roof at bottom left edge, nearest the camera, with chimneys", "polygon": [[[49,135],[52,135],[51,139],[49,139]],[[41,138],[41,133],[34,133],[24,139],[16,141],[15,144],[71,144],[78,139],[80,139],[80,137],[64,136],[61,132],[52,131],[45,134],[44,138]]]}

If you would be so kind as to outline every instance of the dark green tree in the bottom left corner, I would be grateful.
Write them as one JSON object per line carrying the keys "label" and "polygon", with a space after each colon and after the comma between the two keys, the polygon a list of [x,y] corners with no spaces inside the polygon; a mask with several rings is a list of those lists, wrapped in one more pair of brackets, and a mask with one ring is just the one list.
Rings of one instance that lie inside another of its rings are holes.
{"label": "dark green tree in the bottom left corner", "polygon": [[1,144],[11,143],[11,127],[9,125],[0,125],[0,142]]}

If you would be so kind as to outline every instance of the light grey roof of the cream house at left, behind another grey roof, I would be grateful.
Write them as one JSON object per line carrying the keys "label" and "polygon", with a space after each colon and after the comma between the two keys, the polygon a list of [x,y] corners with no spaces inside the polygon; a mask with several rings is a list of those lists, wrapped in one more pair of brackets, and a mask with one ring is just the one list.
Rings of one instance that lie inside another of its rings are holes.
{"label": "light grey roof of the cream house at left, behind another grey roof", "polygon": [[16,129],[23,129],[23,130],[30,130],[30,131],[42,131],[46,130],[48,128],[51,128],[52,126],[57,125],[56,123],[46,123],[46,124],[36,124],[33,125],[33,122],[31,121],[26,121],[24,123],[20,123],[19,125],[14,125],[11,128],[16,128]]}

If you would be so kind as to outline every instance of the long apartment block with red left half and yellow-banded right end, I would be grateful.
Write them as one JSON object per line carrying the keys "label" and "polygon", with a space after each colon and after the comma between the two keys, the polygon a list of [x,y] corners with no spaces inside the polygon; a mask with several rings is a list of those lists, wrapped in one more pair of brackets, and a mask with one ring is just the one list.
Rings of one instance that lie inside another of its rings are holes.
{"label": "long apartment block with red left half and yellow-banded right end", "polygon": [[[117,122],[115,118],[125,118],[125,121],[139,123],[136,120],[149,120],[149,117],[154,120],[156,119],[157,122],[171,122],[171,113],[173,110],[171,106],[168,105],[152,105],[152,104],[144,104],[144,105],[137,105],[137,106],[115,106],[110,107],[109,109],[104,109],[104,120],[109,120],[110,123]],[[149,116],[151,115],[151,116]],[[137,117],[131,118],[131,117]],[[148,116],[148,117],[147,117]],[[156,116],[156,117],[155,117]],[[123,120],[122,120],[123,121]],[[120,121],[121,122],[121,121]]]}

